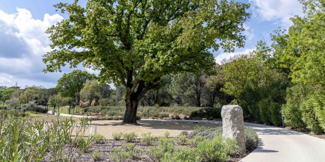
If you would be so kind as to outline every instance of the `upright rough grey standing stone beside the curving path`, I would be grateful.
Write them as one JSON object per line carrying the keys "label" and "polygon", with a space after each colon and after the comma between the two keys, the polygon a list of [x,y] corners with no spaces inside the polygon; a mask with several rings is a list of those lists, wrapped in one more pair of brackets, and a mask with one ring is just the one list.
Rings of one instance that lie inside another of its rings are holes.
{"label": "upright rough grey standing stone beside the curving path", "polygon": [[222,137],[234,138],[242,153],[246,153],[243,109],[238,105],[224,105],[221,110]]}

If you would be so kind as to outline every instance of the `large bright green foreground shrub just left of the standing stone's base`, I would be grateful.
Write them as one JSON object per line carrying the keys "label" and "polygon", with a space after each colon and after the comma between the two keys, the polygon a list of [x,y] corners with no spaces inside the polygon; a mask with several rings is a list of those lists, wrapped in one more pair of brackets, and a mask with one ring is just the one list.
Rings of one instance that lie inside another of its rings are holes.
{"label": "large bright green foreground shrub just left of the standing stone's base", "polygon": [[225,162],[229,158],[221,135],[215,136],[213,140],[206,139],[200,142],[197,151],[201,154],[204,161]]}

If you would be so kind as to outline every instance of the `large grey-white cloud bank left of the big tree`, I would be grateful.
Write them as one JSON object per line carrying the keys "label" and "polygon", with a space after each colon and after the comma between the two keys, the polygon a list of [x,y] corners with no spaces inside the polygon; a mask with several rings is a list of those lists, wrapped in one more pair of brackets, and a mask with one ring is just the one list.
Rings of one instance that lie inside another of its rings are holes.
{"label": "large grey-white cloud bank left of the big tree", "polygon": [[[33,19],[26,9],[7,14],[0,10],[0,85],[54,85],[61,74],[42,72],[42,56],[51,50],[46,29],[63,17],[45,14],[43,20]],[[9,82],[10,80],[10,82]]]}

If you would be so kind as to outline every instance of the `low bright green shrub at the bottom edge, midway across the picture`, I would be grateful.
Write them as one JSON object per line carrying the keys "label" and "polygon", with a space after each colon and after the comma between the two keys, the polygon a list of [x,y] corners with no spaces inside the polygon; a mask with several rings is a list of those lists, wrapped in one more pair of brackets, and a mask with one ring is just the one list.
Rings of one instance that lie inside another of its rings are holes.
{"label": "low bright green shrub at the bottom edge, midway across the picture", "polygon": [[165,153],[172,153],[175,149],[174,140],[171,138],[160,137],[158,139],[158,145],[154,147],[149,147],[147,153],[153,159],[161,159]]}

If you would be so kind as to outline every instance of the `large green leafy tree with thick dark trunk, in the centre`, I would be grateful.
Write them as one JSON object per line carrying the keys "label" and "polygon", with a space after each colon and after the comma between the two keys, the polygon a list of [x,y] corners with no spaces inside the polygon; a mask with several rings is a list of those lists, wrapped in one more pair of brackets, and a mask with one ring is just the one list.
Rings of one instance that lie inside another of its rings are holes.
{"label": "large green leafy tree with thick dark trunk, in the centre", "polygon": [[225,0],[88,0],[55,5],[69,19],[47,30],[44,71],[82,64],[126,88],[124,123],[136,123],[144,94],[161,77],[212,67],[213,51],[243,47],[248,4]]}

